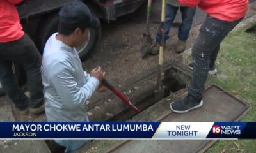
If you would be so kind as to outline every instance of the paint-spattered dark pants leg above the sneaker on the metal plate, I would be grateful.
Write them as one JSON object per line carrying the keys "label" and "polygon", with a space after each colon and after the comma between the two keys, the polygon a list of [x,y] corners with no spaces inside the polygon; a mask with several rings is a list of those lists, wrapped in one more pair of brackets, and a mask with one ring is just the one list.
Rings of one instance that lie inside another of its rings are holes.
{"label": "paint-spattered dark pants leg above the sneaker on the metal plate", "polygon": [[[189,96],[201,99],[208,77],[209,66],[214,66],[221,41],[241,21],[227,22],[207,16],[192,48],[193,77],[189,86]],[[210,62],[211,61],[211,62]]]}

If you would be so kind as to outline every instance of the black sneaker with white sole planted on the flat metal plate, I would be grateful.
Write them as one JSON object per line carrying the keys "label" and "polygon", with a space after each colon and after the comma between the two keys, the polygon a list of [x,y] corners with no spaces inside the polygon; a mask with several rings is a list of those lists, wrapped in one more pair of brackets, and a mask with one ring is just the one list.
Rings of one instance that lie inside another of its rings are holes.
{"label": "black sneaker with white sole planted on the flat metal plate", "polygon": [[186,96],[184,99],[180,99],[170,103],[170,108],[175,113],[186,113],[189,110],[194,110],[196,108],[200,108],[203,105],[203,100],[200,99],[196,101],[195,99]]}

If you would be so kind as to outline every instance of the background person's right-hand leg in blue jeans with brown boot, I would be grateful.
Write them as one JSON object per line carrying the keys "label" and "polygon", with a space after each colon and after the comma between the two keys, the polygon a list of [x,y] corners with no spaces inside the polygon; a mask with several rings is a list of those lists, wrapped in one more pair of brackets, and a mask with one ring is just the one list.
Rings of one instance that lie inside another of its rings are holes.
{"label": "background person's right-hand leg in blue jeans with brown boot", "polygon": [[186,40],[188,40],[189,31],[193,23],[193,17],[195,15],[196,8],[180,7],[182,15],[182,23],[179,26],[177,45],[175,51],[177,53],[184,52],[186,48]]}

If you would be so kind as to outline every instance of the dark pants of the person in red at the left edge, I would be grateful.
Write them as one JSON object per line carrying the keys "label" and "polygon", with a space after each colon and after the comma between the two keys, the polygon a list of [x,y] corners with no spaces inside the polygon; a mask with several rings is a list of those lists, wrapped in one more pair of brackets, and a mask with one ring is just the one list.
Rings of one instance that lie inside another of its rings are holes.
{"label": "dark pants of the person in red at the left edge", "polygon": [[[26,34],[19,40],[0,43],[0,82],[6,94],[20,110],[27,108],[28,105],[35,107],[44,100],[41,59],[35,43]],[[13,75],[12,62],[26,70],[27,86],[31,92],[30,103]]]}

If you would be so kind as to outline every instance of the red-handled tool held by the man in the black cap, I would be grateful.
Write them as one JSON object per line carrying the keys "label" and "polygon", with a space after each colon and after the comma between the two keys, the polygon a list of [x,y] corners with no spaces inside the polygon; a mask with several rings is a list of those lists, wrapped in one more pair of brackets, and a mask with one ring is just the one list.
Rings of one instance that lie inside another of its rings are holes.
{"label": "red-handled tool held by the man in the black cap", "polygon": [[128,106],[130,106],[136,113],[140,113],[140,110],[132,105],[131,101],[127,99],[120,91],[118,91],[113,85],[111,85],[106,78],[103,78],[102,84],[105,85],[109,90],[111,90],[118,98],[122,99]]}

